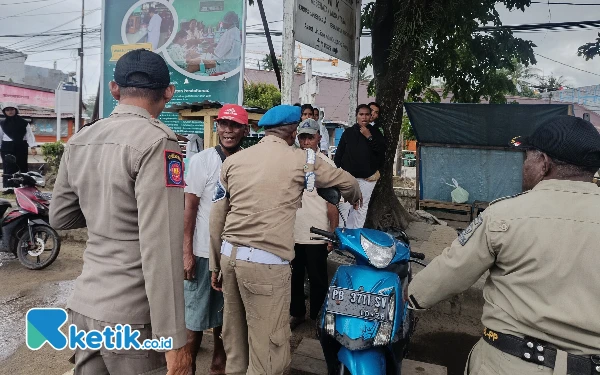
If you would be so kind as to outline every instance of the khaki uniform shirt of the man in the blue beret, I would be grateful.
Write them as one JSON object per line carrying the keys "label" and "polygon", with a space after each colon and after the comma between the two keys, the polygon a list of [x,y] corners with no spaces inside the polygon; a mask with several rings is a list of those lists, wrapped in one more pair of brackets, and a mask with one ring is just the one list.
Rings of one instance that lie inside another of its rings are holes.
{"label": "khaki uniform shirt of the man in the blue beret", "polygon": [[[229,197],[213,203],[211,210],[211,270],[219,268],[222,240],[294,259],[294,221],[304,191],[306,160],[306,151],[275,136],[225,160],[220,183]],[[314,173],[316,187],[335,186],[349,202],[360,199],[358,182],[348,172],[317,157]]]}

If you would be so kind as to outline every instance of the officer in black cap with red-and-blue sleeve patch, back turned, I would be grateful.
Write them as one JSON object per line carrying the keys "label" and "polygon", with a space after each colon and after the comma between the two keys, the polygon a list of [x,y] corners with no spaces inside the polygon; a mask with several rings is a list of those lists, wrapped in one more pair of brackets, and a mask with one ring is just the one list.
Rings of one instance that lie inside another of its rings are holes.
{"label": "officer in black cap with red-and-blue sleeve patch, back turned", "polygon": [[[116,64],[111,115],[65,147],[50,208],[57,229],[88,228],[83,271],[67,304],[78,330],[129,324],[138,341],[171,347],[75,350],[75,374],[182,374],[183,157],[172,130],[157,120],[175,92],[165,61],[135,50]],[[117,328],[118,329],[118,328]]]}

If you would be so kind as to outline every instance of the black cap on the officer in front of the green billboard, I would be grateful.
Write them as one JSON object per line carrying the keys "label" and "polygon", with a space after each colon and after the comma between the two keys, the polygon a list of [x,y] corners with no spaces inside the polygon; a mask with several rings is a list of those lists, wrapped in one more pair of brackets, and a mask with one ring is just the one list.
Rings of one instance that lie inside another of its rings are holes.
{"label": "black cap on the officer in front of the green billboard", "polygon": [[[134,73],[146,77],[142,80],[132,80],[130,76]],[[121,87],[166,89],[171,83],[171,77],[167,63],[159,54],[145,49],[136,49],[127,52],[117,61],[115,82]]]}

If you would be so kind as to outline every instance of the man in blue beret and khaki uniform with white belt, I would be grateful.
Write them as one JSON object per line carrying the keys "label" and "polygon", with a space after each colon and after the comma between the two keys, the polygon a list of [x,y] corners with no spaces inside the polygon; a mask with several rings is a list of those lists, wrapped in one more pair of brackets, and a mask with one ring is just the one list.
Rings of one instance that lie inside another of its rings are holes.
{"label": "man in blue beret and khaki uniform with white belt", "polygon": [[299,107],[270,109],[258,123],[265,137],[221,167],[210,216],[210,269],[213,288],[225,299],[227,374],[283,374],[289,366],[290,262],[304,189],[335,186],[348,202],[361,200],[348,172],[312,149],[291,147],[299,123]]}

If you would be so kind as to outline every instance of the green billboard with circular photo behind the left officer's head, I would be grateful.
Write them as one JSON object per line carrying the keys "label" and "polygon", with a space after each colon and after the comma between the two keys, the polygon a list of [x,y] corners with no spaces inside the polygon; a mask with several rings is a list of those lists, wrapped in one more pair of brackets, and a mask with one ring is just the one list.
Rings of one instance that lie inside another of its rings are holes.
{"label": "green billboard with circular photo behind the left officer's head", "polygon": [[[145,48],[167,62],[175,96],[242,104],[247,0],[104,0],[100,116],[117,105],[108,89],[120,56]],[[202,134],[202,122],[159,119],[179,134]]]}

